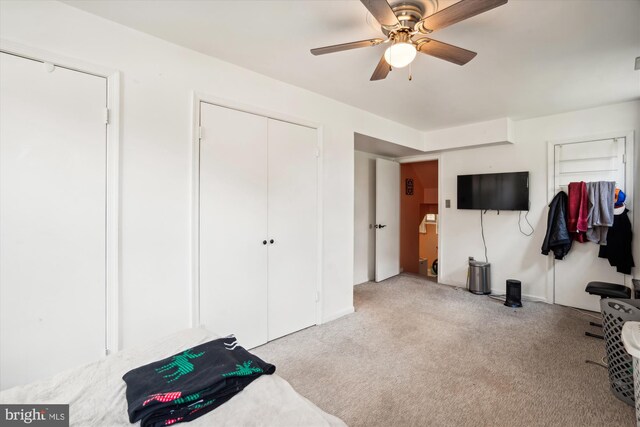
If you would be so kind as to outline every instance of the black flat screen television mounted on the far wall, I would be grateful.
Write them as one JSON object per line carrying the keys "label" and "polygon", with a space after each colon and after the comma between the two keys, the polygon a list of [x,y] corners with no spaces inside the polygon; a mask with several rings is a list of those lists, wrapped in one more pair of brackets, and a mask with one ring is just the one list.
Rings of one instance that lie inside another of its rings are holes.
{"label": "black flat screen television mounted on the far wall", "polygon": [[458,209],[529,210],[529,172],[458,175]]}

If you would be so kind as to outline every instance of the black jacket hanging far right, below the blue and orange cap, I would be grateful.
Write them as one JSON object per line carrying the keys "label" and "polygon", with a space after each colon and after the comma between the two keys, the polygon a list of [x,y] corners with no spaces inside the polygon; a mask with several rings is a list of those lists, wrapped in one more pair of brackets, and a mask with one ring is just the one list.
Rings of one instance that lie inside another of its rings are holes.
{"label": "black jacket hanging far right, below the blue and orange cap", "polygon": [[616,271],[622,274],[631,274],[631,268],[634,267],[631,253],[631,221],[627,212],[629,209],[614,215],[613,226],[607,233],[607,245],[600,246],[598,254],[600,258],[607,258],[609,264],[616,267]]}

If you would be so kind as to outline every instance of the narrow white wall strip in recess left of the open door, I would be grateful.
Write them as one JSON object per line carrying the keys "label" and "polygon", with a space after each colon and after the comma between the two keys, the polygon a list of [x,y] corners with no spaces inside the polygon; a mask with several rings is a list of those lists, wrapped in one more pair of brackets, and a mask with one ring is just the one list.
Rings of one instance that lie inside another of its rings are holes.
{"label": "narrow white wall strip in recess left of the open door", "polygon": [[376,160],[355,152],[355,229],[353,284],[375,279]]}

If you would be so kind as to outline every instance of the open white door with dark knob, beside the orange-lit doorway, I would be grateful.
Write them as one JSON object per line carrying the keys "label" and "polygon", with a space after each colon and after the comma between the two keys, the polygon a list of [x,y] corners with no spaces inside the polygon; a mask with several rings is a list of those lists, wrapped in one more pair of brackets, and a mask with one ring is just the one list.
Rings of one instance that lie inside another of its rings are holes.
{"label": "open white door with dark knob, beside the orange-lit doorway", "polygon": [[400,164],[376,159],[376,282],[400,274]]}

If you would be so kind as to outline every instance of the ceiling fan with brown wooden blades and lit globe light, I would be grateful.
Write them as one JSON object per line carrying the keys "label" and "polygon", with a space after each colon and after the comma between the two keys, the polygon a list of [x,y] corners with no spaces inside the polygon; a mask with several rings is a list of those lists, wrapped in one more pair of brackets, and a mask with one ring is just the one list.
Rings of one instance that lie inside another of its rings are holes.
{"label": "ceiling fan with brown wooden blades and lit globe light", "polygon": [[458,65],[464,65],[471,61],[477,55],[476,52],[420,36],[431,34],[456,22],[502,6],[508,0],[461,0],[429,16],[424,16],[424,7],[417,2],[406,1],[391,6],[386,0],[360,1],[380,23],[381,30],[387,38],[319,47],[311,49],[311,53],[324,55],[391,43],[380,58],[380,62],[378,62],[370,79],[382,80],[387,77],[392,68],[403,68],[409,65],[416,57],[417,52]]}

